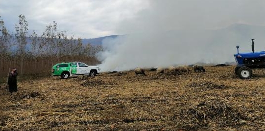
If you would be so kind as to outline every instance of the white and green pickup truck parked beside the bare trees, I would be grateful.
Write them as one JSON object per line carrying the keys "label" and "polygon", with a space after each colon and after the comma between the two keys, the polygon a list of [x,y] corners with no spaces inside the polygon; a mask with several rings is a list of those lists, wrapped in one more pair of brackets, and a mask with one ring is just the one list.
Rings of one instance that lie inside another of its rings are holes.
{"label": "white and green pickup truck parked beside the bare trees", "polygon": [[96,76],[99,73],[98,66],[88,66],[81,62],[60,63],[52,66],[52,75],[61,76],[63,79],[69,78],[71,75],[85,75]]}

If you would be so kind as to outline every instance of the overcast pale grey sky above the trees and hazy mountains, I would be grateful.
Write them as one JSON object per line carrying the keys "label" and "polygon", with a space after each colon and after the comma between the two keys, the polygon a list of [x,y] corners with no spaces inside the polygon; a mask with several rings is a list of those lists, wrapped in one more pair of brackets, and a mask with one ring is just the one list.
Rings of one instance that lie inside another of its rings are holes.
{"label": "overcast pale grey sky above the trees and hazy mountains", "polygon": [[265,0],[0,0],[0,16],[14,32],[23,14],[41,34],[57,30],[81,38],[178,29],[218,29],[233,23],[265,26]]}

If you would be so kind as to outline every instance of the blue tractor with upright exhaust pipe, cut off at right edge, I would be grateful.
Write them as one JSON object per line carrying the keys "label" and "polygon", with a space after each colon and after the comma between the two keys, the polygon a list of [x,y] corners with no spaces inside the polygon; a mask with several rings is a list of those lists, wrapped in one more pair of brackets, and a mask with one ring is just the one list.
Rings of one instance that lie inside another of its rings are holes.
{"label": "blue tractor with upright exhaust pipe, cut off at right edge", "polygon": [[237,62],[235,74],[241,79],[249,79],[252,76],[253,68],[265,68],[265,51],[254,52],[254,39],[252,41],[252,52],[234,54]]}

